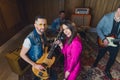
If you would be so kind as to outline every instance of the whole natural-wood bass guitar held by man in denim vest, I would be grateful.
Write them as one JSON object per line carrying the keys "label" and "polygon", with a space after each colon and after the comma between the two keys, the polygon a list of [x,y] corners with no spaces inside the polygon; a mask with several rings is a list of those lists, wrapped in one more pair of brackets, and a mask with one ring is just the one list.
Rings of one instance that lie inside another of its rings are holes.
{"label": "whole natural-wood bass guitar held by man in denim vest", "polygon": [[[62,31],[59,32],[56,40],[58,40],[60,38],[61,34],[62,34]],[[38,70],[38,69],[32,67],[33,73],[37,77],[41,78],[42,80],[46,80],[50,77],[49,76],[49,69],[53,65],[53,63],[55,62],[55,56],[53,56],[53,52],[54,52],[54,49],[56,47],[57,47],[57,44],[53,43],[49,53],[48,53],[48,47],[45,47],[45,53],[43,53],[42,57],[36,61],[37,64],[42,65],[45,69]]]}

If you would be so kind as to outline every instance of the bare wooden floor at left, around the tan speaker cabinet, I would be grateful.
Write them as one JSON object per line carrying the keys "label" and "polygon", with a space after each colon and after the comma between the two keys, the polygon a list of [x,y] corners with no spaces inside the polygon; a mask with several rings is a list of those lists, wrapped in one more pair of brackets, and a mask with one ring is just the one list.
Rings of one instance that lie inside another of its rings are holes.
{"label": "bare wooden floor at left, around the tan speaker cabinet", "polygon": [[12,72],[5,55],[18,48],[20,44],[22,45],[25,36],[32,29],[31,25],[26,26],[4,45],[0,46],[0,80],[18,80],[18,75]]}

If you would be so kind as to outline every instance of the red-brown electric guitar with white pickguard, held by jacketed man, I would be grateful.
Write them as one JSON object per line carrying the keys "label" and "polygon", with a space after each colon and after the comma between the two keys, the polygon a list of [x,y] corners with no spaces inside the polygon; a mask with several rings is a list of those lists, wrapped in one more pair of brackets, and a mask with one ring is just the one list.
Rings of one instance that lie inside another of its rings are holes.
{"label": "red-brown electric guitar with white pickguard, held by jacketed man", "polygon": [[[120,39],[116,39],[114,35],[111,35],[111,36],[108,36],[106,37],[106,39],[108,40],[108,46],[112,46],[112,47],[117,47],[118,45],[115,44],[117,42],[120,41]],[[106,47],[103,43],[103,41],[98,37],[97,39],[97,42],[98,42],[98,45],[101,46],[101,47]]]}

